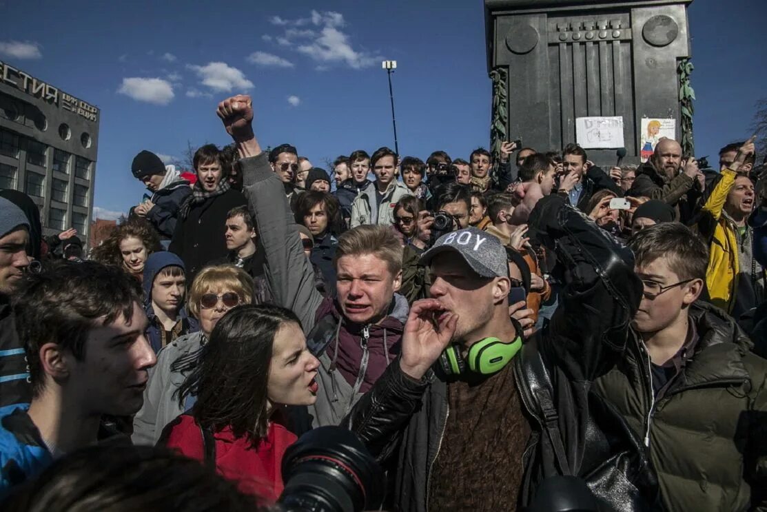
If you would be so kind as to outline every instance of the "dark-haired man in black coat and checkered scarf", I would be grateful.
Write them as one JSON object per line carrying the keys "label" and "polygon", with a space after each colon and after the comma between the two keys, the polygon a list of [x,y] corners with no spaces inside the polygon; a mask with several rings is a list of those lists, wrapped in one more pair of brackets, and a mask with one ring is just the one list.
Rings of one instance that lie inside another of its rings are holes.
{"label": "dark-haired man in black coat and checkered scarf", "polygon": [[225,220],[229,211],[247,203],[242,192],[232,189],[221,152],[206,144],[194,154],[197,182],[192,195],[179,210],[179,222],[168,250],[179,255],[189,282],[202,267],[226,256]]}

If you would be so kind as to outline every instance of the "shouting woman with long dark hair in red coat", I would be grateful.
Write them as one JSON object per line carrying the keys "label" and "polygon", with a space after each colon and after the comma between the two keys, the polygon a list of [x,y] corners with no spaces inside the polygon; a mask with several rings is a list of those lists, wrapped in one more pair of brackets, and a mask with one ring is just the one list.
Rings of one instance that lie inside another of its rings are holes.
{"label": "shouting woman with long dark hair in red coat", "polygon": [[[285,449],[296,440],[285,405],[316,400],[318,360],[309,353],[298,317],[268,304],[229,310],[216,324],[202,360],[179,389],[192,409],[167,425],[163,443],[213,464],[241,491],[273,503],[282,492]],[[203,440],[212,439],[215,451]]]}

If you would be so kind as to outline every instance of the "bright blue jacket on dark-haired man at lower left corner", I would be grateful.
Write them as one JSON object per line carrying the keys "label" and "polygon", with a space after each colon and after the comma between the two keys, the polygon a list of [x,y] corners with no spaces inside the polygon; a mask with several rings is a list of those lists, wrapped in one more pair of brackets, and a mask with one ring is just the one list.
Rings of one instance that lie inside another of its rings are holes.
{"label": "bright blue jacket on dark-haired man at lower left corner", "polygon": [[53,457],[27,414],[29,405],[0,408],[0,497],[34,477]]}

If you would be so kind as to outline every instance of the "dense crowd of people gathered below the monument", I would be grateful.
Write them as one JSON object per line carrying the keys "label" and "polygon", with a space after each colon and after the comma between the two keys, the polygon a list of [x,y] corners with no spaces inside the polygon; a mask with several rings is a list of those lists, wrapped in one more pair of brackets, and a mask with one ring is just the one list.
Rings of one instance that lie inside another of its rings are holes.
{"label": "dense crowd of people gathered below the monument", "polygon": [[[89,253],[0,192],[8,510],[110,452],[273,504],[285,451],[326,425],[386,468],[384,509],[522,510],[557,475],[599,510],[767,507],[753,139],[717,169],[672,139],[610,169],[509,142],[321,169],[262,149],[250,97],[217,114],[232,143],[193,173],[137,154],[149,193]],[[134,492],[172,493],[156,471]]]}

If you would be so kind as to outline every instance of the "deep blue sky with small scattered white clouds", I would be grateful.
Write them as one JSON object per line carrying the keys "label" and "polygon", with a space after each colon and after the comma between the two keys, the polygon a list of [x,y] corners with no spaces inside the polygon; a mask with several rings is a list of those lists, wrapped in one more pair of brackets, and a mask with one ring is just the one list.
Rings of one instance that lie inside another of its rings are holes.
{"label": "deep blue sky with small scattered white clouds", "polygon": [[[466,158],[488,145],[481,0],[0,0],[0,11],[0,59],[100,107],[104,210],[140,202],[130,162],[141,149],[179,157],[187,141],[228,143],[215,109],[234,93],[254,97],[262,145],[294,143],[314,165],[393,147],[383,59],[398,63],[400,153]],[[696,153],[713,156],[749,135],[767,96],[767,2],[696,0],[689,17]]]}

